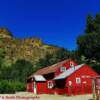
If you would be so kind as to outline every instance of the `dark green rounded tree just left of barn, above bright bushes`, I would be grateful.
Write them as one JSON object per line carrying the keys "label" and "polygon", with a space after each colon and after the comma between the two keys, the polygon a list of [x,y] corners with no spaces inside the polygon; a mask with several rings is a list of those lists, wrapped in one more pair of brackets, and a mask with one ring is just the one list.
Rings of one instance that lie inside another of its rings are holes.
{"label": "dark green rounded tree just left of barn, above bright bushes", "polygon": [[25,83],[26,78],[32,73],[33,65],[29,61],[17,60],[16,63],[12,65],[10,75],[11,79]]}

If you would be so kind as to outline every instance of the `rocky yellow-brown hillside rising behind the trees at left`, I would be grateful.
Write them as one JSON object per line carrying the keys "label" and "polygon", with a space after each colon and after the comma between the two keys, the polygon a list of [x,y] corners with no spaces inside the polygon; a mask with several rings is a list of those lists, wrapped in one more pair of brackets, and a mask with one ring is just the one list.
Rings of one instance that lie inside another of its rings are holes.
{"label": "rocky yellow-brown hillside rising behind the trees at left", "polygon": [[6,63],[12,64],[17,59],[25,59],[35,64],[47,53],[54,53],[60,48],[42,42],[40,38],[18,39],[5,28],[0,29],[0,48],[6,52]]}

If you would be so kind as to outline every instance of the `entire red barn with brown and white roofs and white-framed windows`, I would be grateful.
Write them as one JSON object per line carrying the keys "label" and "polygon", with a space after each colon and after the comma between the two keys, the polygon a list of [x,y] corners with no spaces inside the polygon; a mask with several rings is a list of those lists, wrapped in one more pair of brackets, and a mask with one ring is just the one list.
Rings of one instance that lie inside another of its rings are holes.
{"label": "entire red barn with brown and white roofs and white-framed windows", "polygon": [[77,65],[70,59],[64,60],[29,76],[27,91],[36,94],[87,94],[92,92],[91,77],[96,75],[86,64]]}

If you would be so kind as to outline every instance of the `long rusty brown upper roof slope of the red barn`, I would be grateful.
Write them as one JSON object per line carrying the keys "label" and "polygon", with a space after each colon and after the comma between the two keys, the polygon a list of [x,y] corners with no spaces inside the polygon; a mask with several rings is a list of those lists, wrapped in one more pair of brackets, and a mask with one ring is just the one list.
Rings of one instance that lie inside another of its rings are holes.
{"label": "long rusty brown upper roof slope of the red barn", "polygon": [[61,61],[59,63],[56,63],[54,65],[51,65],[49,67],[45,67],[45,68],[42,68],[40,70],[38,70],[37,72],[33,73],[31,76],[28,77],[29,78],[32,78],[34,75],[45,75],[45,74],[49,74],[49,73],[53,73],[55,72],[59,67],[62,67],[62,65],[68,61],[70,61],[71,59],[67,59],[67,60],[64,60],[64,61]]}

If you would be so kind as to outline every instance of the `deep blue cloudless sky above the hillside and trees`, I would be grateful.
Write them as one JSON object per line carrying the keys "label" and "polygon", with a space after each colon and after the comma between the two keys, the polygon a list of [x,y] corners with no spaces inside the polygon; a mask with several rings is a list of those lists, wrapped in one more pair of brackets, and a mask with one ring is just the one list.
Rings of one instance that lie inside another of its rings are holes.
{"label": "deep blue cloudless sky above the hillside and trees", "polygon": [[77,48],[88,14],[100,13],[100,0],[0,0],[0,27],[16,38],[39,37],[44,43]]}

